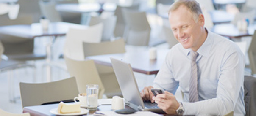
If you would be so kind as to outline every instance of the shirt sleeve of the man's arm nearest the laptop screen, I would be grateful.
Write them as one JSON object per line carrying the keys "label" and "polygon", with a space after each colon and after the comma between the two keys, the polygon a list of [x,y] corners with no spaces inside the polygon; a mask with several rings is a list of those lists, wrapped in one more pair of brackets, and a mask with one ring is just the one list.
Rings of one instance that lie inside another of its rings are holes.
{"label": "shirt sleeve of the man's arm nearest the laptop screen", "polygon": [[171,53],[168,52],[167,57],[154,80],[153,87],[164,89],[168,92],[175,94],[176,89],[178,88],[178,82],[175,81],[173,78],[173,73],[172,73],[171,63],[170,63],[170,59],[171,59],[170,55]]}

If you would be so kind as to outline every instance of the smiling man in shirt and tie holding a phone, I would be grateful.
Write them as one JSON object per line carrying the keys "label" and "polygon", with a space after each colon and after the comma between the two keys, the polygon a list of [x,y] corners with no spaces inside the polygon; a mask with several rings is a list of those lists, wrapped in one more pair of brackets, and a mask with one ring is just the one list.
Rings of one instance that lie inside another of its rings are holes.
{"label": "smiling man in shirt and tie holding a phone", "polygon": [[[219,116],[234,111],[234,116],[244,116],[244,56],[239,47],[204,27],[194,0],[173,3],[169,22],[179,43],[168,52],[154,85],[142,90],[142,99],[155,101],[168,114]],[[173,95],[178,86],[182,103]],[[151,88],[166,91],[153,97]]]}

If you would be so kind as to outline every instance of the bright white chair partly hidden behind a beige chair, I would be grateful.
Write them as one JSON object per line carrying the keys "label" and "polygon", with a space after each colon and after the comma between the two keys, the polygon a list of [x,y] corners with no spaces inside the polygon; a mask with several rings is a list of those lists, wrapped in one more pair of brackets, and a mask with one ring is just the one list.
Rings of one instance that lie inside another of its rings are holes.
{"label": "bright white chair partly hidden behind a beige chair", "polygon": [[66,35],[64,54],[77,60],[84,60],[83,42],[99,43],[102,38],[102,31],[102,23],[85,29],[70,28]]}

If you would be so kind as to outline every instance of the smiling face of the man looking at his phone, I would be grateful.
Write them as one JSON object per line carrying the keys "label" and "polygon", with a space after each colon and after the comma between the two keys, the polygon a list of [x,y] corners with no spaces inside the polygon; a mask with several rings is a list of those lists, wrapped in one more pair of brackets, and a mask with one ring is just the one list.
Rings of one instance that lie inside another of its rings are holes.
{"label": "smiling face of the man looking at his phone", "polygon": [[193,51],[197,51],[204,42],[202,37],[204,30],[203,15],[201,14],[198,22],[195,22],[192,13],[184,5],[181,5],[169,15],[171,29],[178,42],[185,49],[191,48]]}

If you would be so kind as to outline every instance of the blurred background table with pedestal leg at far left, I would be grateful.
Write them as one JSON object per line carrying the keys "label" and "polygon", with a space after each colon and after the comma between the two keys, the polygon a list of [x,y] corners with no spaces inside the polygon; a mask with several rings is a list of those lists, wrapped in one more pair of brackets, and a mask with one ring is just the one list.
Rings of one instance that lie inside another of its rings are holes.
{"label": "blurred background table with pedestal leg at far left", "polygon": [[[69,28],[86,28],[86,26],[79,24],[72,24],[66,22],[51,22],[49,24],[48,30],[43,30],[40,23],[34,23],[31,25],[8,25],[0,27],[0,33],[5,35],[12,35],[22,38],[34,39],[37,37],[48,36],[51,38],[50,42],[46,46],[46,63],[49,65],[51,61],[51,46],[56,40],[57,36],[66,35]],[[47,81],[49,82],[50,78],[50,67],[47,68]]]}

